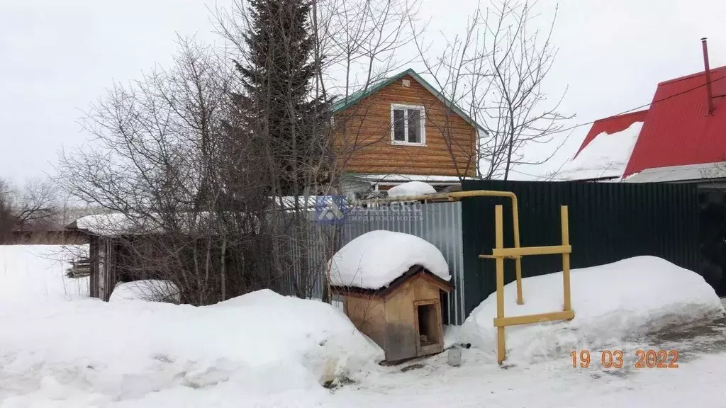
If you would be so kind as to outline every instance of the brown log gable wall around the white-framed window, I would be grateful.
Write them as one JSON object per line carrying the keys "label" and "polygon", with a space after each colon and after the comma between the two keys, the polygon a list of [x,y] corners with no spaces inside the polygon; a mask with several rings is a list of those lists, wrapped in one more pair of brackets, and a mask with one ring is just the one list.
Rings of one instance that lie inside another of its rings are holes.
{"label": "brown log gable wall around the white-framed window", "polygon": [[[404,76],[335,115],[338,166],[350,173],[475,176],[476,128]],[[425,145],[391,143],[391,105],[425,109]]]}

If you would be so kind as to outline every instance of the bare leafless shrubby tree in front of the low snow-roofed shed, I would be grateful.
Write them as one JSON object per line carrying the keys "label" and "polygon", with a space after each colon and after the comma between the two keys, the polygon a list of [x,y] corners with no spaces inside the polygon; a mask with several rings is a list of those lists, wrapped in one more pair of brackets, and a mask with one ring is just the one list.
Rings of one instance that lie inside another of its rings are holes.
{"label": "bare leafless shrubby tree in front of the low snow-roofed shed", "polygon": [[254,147],[229,130],[228,60],[183,38],[179,49],[173,68],[91,106],[95,139],[62,155],[60,183],[107,210],[79,227],[107,242],[119,281],[168,280],[195,304],[275,287],[256,233],[268,203]]}

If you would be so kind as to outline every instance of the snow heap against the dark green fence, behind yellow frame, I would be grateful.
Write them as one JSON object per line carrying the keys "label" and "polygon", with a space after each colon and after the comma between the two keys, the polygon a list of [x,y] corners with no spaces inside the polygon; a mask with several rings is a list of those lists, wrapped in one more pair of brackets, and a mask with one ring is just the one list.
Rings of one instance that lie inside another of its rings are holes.
{"label": "snow heap against the dark green fence, behind yellow frame", "polygon": [[[562,272],[522,280],[524,304],[516,303],[516,282],[505,286],[505,317],[561,311]],[[703,277],[653,256],[638,256],[613,264],[573,269],[569,322],[506,328],[507,361],[621,346],[637,333],[680,325],[723,314],[724,308]],[[462,325],[461,343],[490,352],[497,350],[496,293],[474,309]]]}

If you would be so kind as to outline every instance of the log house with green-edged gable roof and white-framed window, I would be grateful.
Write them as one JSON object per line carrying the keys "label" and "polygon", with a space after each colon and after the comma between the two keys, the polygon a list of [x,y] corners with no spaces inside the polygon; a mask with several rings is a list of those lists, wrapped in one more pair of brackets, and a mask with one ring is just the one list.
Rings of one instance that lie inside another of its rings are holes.
{"label": "log house with green-edged gable roof and white-framed window", "polygon": [[334,145],[351,195],[425,181],[444,189],[477,174],[479,126],[414,70],[333,105]]}

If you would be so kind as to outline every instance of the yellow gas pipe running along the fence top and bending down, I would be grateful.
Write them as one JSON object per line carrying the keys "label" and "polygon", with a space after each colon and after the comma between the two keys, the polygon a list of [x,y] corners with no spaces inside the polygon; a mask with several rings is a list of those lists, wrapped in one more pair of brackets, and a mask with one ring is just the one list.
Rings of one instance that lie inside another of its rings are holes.
{"label": "yellow gas pipe running along the fence top and bending down", "polygon": [[[510,191],[496,191],[496,190],[473,190],[473,191],[457,191],[457,192],[444,192],[438,194],[428,195],[411,195],[409,197],[388,197],[388,198],[377,198],[375,200],[363,200],[362,204],[377,204],[377,203],[393,203],[400,201],[418,201],[418,200],[449,200],[457,201],[467,197],[505,197],[512,200],[512,229],[514,235],[514,248],[519,248],[519,204],[517,201],[517,195]],[[522,260],[521,258],[515,258],[515,277],[517,279],[517,304],[524,304],[522,295]]]}

